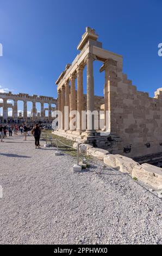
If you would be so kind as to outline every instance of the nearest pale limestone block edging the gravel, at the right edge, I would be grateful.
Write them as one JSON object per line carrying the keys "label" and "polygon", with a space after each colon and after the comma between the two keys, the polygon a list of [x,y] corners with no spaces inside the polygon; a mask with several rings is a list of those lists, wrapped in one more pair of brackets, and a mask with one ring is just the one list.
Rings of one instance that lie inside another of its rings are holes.
{"label": "nearest pale limestone block edging the gravel, at the right edge", "polygon": [[162,169],[151,164],[144,163],[134,166],[132,178],[137,178],[155,189],[162,189]]}

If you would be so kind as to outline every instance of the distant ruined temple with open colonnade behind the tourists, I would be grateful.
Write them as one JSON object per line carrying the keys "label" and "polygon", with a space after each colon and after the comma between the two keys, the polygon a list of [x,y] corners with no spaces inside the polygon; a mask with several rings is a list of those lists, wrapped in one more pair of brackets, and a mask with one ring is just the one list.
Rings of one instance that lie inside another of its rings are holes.
{"label": "distant ruined temple with open colonnade behind the tourists", "polygon": [[[28,123],[30,122],[46,122],[46,123],[52,123],[53,117],[52,117],[52,111],[55,110],[57,107],[57,99],[54,99],[53,97],[47,97],[47,96],[38,96],[33,95],[30,96],[28,94],[19,93],[19,94],[12,94],[9,93],[0,93],[0,108],[3,108],[3,115],[0,116],[0,123],[7,122],[8,121],[15,121],[22,122],[26,121]],[[13,103],[8,103],[8,101],[13,101]],[[23,102],[23,112],[18,113],[17,109],[17,101]],[[27,114],[27,102],[32,102],[32,111],[30,115]],[[36,102],[39,102],[41,105],[41,111],[38,112],[36,109]],[[47,108],[44,108],[44,103],[48,104]],[[52,104],[55,105],[55,107],[52,107]],[[8,108],[12,109],[12,115],[8,116]],[[48,111],[48,116],[46,116],[45,112]]]}

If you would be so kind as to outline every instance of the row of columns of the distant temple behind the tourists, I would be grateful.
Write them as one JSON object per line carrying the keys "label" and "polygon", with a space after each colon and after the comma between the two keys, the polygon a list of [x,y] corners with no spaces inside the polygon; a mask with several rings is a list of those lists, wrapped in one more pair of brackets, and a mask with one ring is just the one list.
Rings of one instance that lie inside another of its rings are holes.
{"label": "row of columns of the distant temple behind the tourists", "polygon": [[[7,120],[8,118],[8,99],[3,99],[3,119]],[[32,113],[33,113],[33,119],[36,117],[36,102],[33,103],[33,108],[32,108]],[[41,118],[45,118],[45,111],[44,111],[44,103],[41,103]],[[48,118],[52,118],[52,107],[51,103],[48,103]],[[14,114],[13,114],[14,119],[17,119],[17,100],[14,100]],[[23,118],[26,120],[27,119],[27,101],[23,101]]]}

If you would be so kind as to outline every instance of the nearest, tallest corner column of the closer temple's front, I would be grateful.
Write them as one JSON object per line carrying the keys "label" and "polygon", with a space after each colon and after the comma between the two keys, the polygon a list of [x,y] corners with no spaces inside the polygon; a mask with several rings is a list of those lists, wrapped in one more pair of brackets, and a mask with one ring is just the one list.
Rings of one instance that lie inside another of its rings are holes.
{"label": "nearest, tallest corner column of the closer temple's front", "polygon": [[[87,132],[94,131],[94,57],[91,53],[86,57],[87,66]],[[90,120],[92,119],[92,120]]]}

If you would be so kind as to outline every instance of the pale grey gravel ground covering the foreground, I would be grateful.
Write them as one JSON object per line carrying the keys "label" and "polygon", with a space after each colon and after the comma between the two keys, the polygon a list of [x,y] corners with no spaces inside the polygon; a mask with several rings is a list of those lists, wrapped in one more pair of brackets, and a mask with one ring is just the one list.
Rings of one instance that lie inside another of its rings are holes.
{"label": "pale grey gravel ground covering the foreground", "polygon": [[73,173],[72,156],[27,139],[0,143],[1,244],[161,244],[160,198],[97,164]]}

